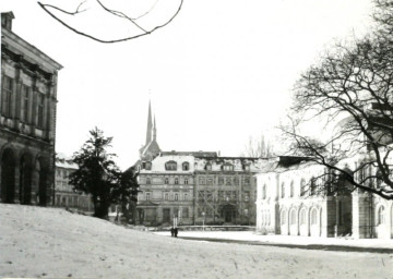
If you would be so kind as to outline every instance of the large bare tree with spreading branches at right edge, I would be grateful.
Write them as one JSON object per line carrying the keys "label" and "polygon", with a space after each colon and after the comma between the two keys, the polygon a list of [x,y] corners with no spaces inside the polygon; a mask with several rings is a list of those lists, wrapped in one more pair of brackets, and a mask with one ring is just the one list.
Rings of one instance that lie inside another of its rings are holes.
{"label": "large bare tree with spreading branches at right edge", "polygon": [[[301,74],[283,132],[294,142],[293,154],[326,168],[318,178],[326,193],[346,185],[393,199],[393,1],[374,2],[376,29],[349,46],[336,44]],[[336,123],[323,142],[300,132],[315,118],[326,126]],[[357,160],[355,167],[348,158]]]}

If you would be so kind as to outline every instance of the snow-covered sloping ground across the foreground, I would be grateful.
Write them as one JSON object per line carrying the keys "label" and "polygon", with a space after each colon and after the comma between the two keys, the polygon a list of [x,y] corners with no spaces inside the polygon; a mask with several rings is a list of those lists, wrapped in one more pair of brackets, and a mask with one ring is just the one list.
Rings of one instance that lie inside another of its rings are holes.
{"label": "snow-covered sloping ground across the foreground", "polygon": [[393,255],[189,241],[0,204],[0,277],[390,279]]}

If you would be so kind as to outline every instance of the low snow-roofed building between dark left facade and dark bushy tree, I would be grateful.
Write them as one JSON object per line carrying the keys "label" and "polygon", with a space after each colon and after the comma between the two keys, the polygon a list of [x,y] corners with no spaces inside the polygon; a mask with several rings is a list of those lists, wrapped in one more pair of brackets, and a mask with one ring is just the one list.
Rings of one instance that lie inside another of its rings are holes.
{"label": "low snow-roofed building between dark left facade and dark bushy tree", "polygon": [[70,159],[56,158],[55,206],[82,211],[94,211],[92,197],[73,190],[70,174],[78,170],[78,165]]}

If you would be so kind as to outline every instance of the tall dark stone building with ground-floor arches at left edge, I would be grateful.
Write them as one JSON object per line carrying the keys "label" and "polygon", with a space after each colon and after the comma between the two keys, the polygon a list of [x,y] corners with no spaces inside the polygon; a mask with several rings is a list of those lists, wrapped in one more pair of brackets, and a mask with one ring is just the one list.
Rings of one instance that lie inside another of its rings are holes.
{"label": "tall dark stone building with ground-floor arches at left edge", "polygon": [[1,14],[0,201],[53,197],[57,77],[62,68],[12,32]]}

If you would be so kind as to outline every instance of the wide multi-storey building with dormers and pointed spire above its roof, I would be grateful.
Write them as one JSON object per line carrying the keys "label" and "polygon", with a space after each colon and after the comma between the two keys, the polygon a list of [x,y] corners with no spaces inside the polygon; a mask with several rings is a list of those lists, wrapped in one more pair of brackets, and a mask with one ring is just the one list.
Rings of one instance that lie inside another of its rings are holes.
{"label": "wide multi-storey building with dormers and pointed spire above its roof", "polygon": [[162,151],[156,136],[148,106],[146,143],[135,163],[141,191],[136,223],[255,225],[253,174],[262,159],[219,157],[214,151]]}

